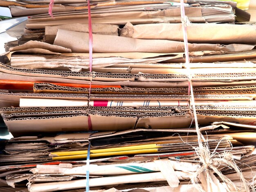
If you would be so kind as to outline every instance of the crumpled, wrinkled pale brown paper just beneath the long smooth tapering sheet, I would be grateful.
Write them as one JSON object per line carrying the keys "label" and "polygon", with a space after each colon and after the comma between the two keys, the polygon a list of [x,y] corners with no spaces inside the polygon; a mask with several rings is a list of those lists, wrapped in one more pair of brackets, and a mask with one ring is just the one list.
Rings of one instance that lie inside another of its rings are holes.
{"label": "crumpled, wrinkled pale brown paper just beneath the long smooth tapering sheet", "polygon": [[[46,51],[45,49],[33,49],[33,51],[41,52],[40,55],[34,54],[29,55],[25,52],[32,51],[31,49],[25,49],[19,51],[24,54],[12,54],[9,53],[7,56],[11,56],[11,66],[19,69],[47,69],[47,68],[58,68],[58,67],[68,67],[72,71],[81,71],[81,69],[90,68],[90,59],[85,56],[65,56],[65,54],[54,54],[53,52]],[[44,54],[42,53],[44,52]],[[52,55],[48,55],[52,54]],[[94,56],[95,54],[93,54]],[[155,57],[155,58],[144,58],[144,59],[128,59],[121,57],[107,57],[107,58],[93,58],[93,69],[110,67],[112,65],[125,64],[128,67],[132,64],[139,65],[141,67],[147,67],[150,63],[158,63],[163,60],[169,60],[172,58],[180,58],[181,56],[166,56],[166,57]],[[256,64],[255,64],[256,65]],[[135,67],[136,67],[135,66]],[[159,64],[155,65],[156,67]],[[181,68],[182,65],[167,65],[168,67],[173,66],[174,68]]]}

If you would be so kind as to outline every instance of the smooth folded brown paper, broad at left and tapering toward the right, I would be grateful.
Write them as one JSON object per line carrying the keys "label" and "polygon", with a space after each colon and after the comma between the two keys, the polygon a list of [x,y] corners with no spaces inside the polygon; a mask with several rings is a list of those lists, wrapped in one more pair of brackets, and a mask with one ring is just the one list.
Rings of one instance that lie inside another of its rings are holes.
{"label": "smooth folded brown paper, broad at left and tapering toward the right", "polygon": [[[180,53],[184,50],[182,42],[170,40],[146,40],[119,36],[93,34],[93,52],[150,52],[150,53]],[[59,29],[54,45],[72,49],[72,52],[89,52],[89,34]],[[217,44],[189,44],[190,51],[245,51],[253,49],[253,45],[217,45]]]}

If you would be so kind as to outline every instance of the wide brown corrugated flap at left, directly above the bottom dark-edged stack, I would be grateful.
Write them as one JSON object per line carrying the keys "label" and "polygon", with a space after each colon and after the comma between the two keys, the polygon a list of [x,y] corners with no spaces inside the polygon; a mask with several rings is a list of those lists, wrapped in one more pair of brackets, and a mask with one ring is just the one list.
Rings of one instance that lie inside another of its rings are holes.
{"label": "wide brown corrugated flap at left, directly above the bottom dark-edged stack", "polygon": [[[90,113],[92,127],[88,124],[88,114],[75,114],[66,116],[44,116],[5,119],[9,131],[13,136],[24,134],[38,134],[50,132],[69,131],[116,131],[133,129],[137,122],[137,116],[124,115],[120,112],[116,114]],[[37,127],[37,129],[34,129]]]}

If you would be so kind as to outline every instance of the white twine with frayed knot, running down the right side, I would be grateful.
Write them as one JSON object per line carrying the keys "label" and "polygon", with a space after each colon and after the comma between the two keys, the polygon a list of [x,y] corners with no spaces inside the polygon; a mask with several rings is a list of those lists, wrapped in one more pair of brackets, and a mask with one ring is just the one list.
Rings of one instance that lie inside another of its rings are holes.
{"label": "white twine with frayed knot, running down the right side", "polygon": [[[180,0],[181,6],[181,22],[182,22],[182,30],[183,30],[183,39],[184,39],[184,50],[185,50],[185,59],[186,59],[186,69],[188,71],[188,78],[189,78],[189,90],[191,93],[191,105],[193,107],[193,115],[195,119],[195,128],[198,136],[198,147],[195,147],[195,152],[199,156],[200,162],[202,163],[201,168],[195,172],[195,174],[191,177],[191,182],[195,185],[195,188],[197,188],[200,192],[212,192],[212,191],[220,191],[220,189],[223,189],[223,185],[220,184],[220,181],[216,178],[216,176],[213,173],[216,173],[220,179],[223,181],[223,183],[226,184],[225,190],[227,192],[249,192],[249,187],[251,186],[248,181],[245,180],[243,177],[243,174],[239,167],[236,165],[233,156],[230,152],[224,152],[221,155],[216,152],[216,149],[218,148],[218,145],[216,146],[214,152],[210,152],[209,146],[207,144],[207,141],[204,140],[204,137],[202,136],[199,125],[198,125],[198,119],[197,119],[197,113],[195,109],[195,98],[193,93],[193,85],[192,85],[192,72],[190,68],[190,61],[189,61],[189,46],[188,46],[188,38],[187,38],[187,29],[186,27],[191,25],[191,22],[189,21],[189,18],[185,16],[185,9],[184,9],[184,0]],[[206,143],[203,145],[202,140]],[[230,168],[233,168],[238,175],[240,176],[240,180],[243,184],[243,186],[236,186],[230,179],[228,179],[225,175],[223,175],[220,170],[218,170],[218,167],[220,165],[225,165]],[[198,185],[198,179],[201,181],[201,183],[207,185],[207,189],[203,189],[200,185]],[[253,187],[252,187],[253,189]],[[254,191],[254,189],[253,189]]]}

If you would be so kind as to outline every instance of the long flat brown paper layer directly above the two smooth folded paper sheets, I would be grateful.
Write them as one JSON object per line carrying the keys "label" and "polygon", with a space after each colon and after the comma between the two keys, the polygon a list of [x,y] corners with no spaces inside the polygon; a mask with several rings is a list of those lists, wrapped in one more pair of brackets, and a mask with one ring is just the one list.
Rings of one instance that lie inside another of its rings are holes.
{"label": "long flat brown paper layer directly above the two smooth folded paper sheets", "polygon": [[[205,19],[202,17],[202,7],[185,7],[185,10],[186,16],[189,17],[189,20],[191,22],[205,22]],[[131,22],[134,25],[157,22],[181,22],[179,7],[157,11],[122,11],[115,13],[92,13],[91,16],[92,23],[105,23],[115,25],[126,25],[127,21]],[[88,14],[83,13],[78,13],[77,15],[55,15],[54,18],[55,19],[53,20],[48,15],[33,17],[29,19],[26,27],[28,29],[44,29],[45,26],[65,25],[72,23],[88,23]],[[223,19],[225,19],[225,16],[221,17],[221,20]]]}

